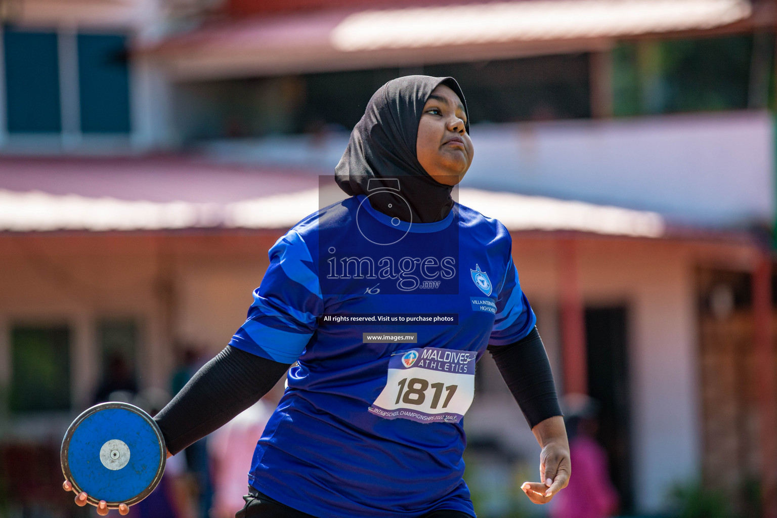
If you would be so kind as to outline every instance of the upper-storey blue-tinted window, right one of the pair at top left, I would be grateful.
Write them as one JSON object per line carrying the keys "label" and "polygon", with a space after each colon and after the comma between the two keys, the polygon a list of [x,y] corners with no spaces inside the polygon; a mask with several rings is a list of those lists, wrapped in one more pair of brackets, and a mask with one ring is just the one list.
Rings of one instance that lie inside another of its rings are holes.
{"label": "upper-storey blue-tinted window, right one of the pair at top left", "polygon": [[78,34],[78,88],[84,133],[129,133],[127,38]]}

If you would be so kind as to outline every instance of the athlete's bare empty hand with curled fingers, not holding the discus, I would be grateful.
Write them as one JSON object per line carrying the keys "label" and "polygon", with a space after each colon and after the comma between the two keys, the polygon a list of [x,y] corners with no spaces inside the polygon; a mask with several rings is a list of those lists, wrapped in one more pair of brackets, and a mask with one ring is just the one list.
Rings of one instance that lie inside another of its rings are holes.
{"label": "athlete's bare empty hand with curled fingers, not holding the discus", "polygon": [[542,451],[539,454],[539,476],[542,482],[524,482],[521,489],[535,503],[548,503],[569,484],[572,474],[570,443],[566,438],[564,419],[560,415],[539,422],[531,432]]}

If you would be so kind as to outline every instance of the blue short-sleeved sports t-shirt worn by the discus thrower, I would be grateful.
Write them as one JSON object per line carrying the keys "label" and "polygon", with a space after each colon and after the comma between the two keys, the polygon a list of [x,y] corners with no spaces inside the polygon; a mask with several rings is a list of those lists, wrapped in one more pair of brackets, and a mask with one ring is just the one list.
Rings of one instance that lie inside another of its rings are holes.
{"label": "blue short-sleeved sports t-shirt worn by the discus thrower", "polygon": [[[297,362],[249,483],[313,516],[474,516],[462,479],[465,408],[434,412],[448,402],[468,406],[455,399],[467,389],[444,380],[470,383],[486,346],[516,342],[535,325],[510,249],[507,229],[468,207],[409,224],[364,196],[319,210],[280,238],[229,342]],[[373,342],[364,333],[408,340]],[[411,366],[430,381],[400,380]],[[442,372],[449,368],[459,374]]]}

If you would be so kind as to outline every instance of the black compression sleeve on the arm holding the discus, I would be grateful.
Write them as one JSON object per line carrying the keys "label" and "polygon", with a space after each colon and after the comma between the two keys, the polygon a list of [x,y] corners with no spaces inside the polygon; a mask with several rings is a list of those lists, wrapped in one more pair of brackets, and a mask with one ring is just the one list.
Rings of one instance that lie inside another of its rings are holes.
{"label": "black compression sleeve on the arm holding the discus", "polygon": [[267,394],[289,367],[226,346],[155,415],[167,450],[177,454],[225,425]]}

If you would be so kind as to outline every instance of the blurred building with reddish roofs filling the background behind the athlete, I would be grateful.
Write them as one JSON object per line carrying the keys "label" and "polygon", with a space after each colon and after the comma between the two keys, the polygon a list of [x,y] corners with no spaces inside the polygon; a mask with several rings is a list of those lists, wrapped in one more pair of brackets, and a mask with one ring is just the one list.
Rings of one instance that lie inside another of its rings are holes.
{"label": "blurred building with reddish roofs filling the background behind the athlete", "polygon": [[[224,346],[270,245],[337,199],[322,176],[372,92],[416,73],[468,96],[476,158],[458,196],[512,232],[559,388],[601,402],[624,513],[658,513],[694,478],[740,509],[761,478],[770,501],[774,2],[0,12],[0,513],[58,505],[61,436],[113,358],[139,389],[167,388],[176,344]],[[474,451],[534,470],[488,358],[478,384]]]}

